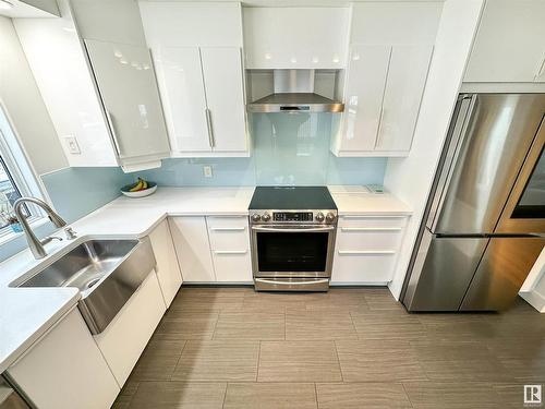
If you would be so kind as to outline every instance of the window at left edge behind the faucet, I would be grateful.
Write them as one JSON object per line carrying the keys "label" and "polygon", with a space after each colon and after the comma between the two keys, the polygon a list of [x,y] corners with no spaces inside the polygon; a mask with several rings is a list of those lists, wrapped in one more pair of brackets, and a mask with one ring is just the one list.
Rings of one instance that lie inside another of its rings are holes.
{"label": "window at left edge behind the faucet", "polygon": [[[21,196],[41,197],[43,194],[0,101],[0,238],[15,232],[10,225],[16,220],[13,204]],[[25,205],[23,210],[29,222],[43,217],[36,206]]]}

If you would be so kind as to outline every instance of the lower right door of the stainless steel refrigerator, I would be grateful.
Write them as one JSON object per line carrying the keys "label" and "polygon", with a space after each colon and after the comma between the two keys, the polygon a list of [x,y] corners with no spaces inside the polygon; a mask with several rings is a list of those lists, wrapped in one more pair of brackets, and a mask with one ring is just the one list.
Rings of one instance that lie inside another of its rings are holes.
{"label": "lower right door of the stainless steel refrigerator", "polygon": [[509,308],[544,244],[544,238],[491,239],[460,310],[501,311]]}

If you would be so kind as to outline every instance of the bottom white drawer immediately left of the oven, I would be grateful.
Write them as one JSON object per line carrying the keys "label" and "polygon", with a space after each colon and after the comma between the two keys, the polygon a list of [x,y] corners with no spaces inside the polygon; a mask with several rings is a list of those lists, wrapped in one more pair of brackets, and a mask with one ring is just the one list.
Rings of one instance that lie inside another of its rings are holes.
{"label": "bottom white drawer immediately left of the oven", "polygon": [[223,282],[251,282],[252,258],[250,250],[213,251],[216,280]]}

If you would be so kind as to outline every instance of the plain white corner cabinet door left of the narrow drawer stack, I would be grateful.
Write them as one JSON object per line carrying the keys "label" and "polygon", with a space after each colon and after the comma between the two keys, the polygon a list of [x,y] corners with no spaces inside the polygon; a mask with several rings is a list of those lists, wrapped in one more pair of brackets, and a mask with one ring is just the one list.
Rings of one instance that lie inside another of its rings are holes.
{"label": "plain white corner cabinet door left of the narrow drawer stack", "polygon": [[169,224],[184,282],[216,281],[206,219],[180,216],[169,218]]}

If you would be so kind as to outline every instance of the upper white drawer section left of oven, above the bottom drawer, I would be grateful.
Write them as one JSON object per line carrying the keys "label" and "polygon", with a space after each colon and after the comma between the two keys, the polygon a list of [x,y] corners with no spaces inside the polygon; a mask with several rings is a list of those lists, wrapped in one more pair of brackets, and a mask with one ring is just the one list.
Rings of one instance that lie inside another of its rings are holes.
{"label": "upper white drawer section left of oven, above the bottom drawer", "polygon": [[250,251],[246,217],[207,217],[210,249],[214,251]]}

